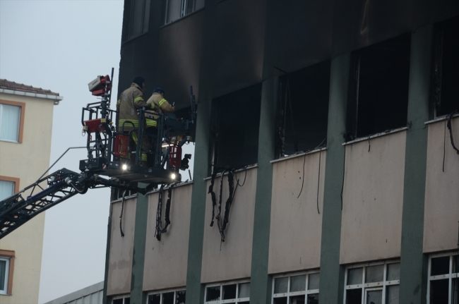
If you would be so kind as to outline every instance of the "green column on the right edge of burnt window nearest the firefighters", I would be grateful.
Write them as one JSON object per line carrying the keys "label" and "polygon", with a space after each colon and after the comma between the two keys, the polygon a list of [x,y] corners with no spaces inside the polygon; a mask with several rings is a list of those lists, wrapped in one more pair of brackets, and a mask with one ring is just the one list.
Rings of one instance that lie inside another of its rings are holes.
{"label": "green column on the right edge of burnt window nearest the firefighters", "polygon": [[256,179],[254,239],[252,245],[250,303],[271,303],[272,278],[268,276],[271,188],[275,149],[275,110],[278,78],[263,81],[261,87],[258,173]]}

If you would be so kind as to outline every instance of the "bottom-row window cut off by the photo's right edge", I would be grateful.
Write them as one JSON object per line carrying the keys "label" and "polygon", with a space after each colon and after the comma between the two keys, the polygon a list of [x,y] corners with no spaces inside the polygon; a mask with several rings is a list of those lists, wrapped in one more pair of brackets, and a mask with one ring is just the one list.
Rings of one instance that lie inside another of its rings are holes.
{"label": "bottom-row window cut off by the photo's right edge", "polygon": [[459,256],[440,253],[429,257],[427,300],[429,304],[459,303]]}

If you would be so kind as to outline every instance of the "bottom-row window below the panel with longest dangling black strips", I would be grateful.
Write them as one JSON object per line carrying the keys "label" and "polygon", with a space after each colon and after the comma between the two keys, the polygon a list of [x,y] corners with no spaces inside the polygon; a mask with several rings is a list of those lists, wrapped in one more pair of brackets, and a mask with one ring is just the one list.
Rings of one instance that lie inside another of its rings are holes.
{"label": "bottom-row window below the panel with longest dangling black strips", "polygon": [[205,286],[205,304],[239,303],[249,304],[250,282],[227,282]]}

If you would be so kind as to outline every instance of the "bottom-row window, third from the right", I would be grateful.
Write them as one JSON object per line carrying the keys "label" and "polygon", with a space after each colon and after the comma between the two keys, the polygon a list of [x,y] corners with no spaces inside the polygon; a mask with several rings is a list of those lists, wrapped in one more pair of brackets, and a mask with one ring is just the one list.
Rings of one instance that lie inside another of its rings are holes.
{"label": "bottom-row window, third from the right", "polygon": [[273,304],[317,304],[320,273],[297,272],[273,277]]}

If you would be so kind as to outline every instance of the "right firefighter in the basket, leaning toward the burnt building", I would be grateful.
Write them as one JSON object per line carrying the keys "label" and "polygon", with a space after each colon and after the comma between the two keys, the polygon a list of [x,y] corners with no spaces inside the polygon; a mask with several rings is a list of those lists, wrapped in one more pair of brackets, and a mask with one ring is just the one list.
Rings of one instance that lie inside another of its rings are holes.
{"label": "right firefighter in the basket, leaning toward the burnt building", "polygon": [[[154,104],[155,105],[155,112],[156,113],[173,113],[175,107],[172,107],[169,102],[164,98],[165,91],[162,88],[157,87],[153,90],[153,95],[148,99],[147,104]],[[148,134],[148,141],[150,144],[150,151],[153,152],[152,157],[148,158],[148,166],[154,166],[154,155],[156,153],[156,145],[157,145],[157,121],[158,115],[155,114],[147,114],[146,115],[146,125],[147,125],[147,134]]]}

